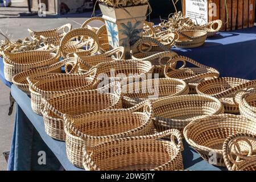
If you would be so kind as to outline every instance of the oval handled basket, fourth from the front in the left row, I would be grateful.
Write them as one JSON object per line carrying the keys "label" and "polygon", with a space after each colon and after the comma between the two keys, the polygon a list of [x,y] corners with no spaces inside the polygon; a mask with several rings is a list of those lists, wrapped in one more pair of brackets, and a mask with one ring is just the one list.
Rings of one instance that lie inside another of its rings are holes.
{"label": "oval handled basket, fourth from the front in the left row", "polygon": [[27,77],[32,110],[41,115],[42,99],[49,99],[80,90],[93,89],[96,85],[94,69],[84,74],[46,73],[43,76]]}

